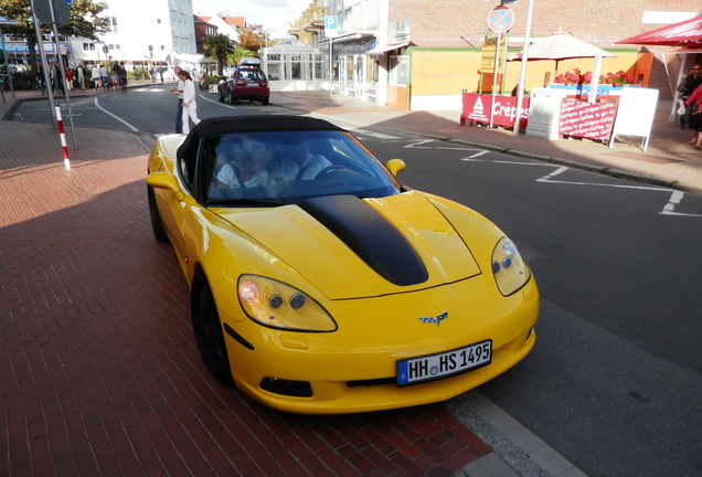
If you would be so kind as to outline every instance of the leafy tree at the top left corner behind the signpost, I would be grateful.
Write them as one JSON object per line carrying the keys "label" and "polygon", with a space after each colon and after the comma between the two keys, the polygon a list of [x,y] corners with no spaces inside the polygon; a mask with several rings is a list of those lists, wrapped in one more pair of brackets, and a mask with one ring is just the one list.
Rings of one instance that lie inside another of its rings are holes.
{"label": "leafy tree at the top left corner behind the signpost", "polygon": [[[46,0],[43,0],[46,1]],[[106,33],[109,22],[99,14],[107,8],[106,3],[93,0],[72,0],[71,19],[68,23],[59,29],[66,36],[83,36],[98,40],[98,35]],[[0,0],[0,17],[18,21],[18,24],[3,25],[4,33],[22,36],[26,40],[30,51],[30,65],[34,71],[36,65],[36,34],[32,15],[31,0]],[[51,26],[41,24],[42,33],[51,33]]]}

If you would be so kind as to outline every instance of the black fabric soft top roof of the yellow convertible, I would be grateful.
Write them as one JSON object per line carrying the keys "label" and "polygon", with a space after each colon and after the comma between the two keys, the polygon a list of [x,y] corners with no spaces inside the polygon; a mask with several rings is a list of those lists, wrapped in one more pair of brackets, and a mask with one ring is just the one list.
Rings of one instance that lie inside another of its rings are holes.
{"label": "black fabric soft top roof of the yellow convertible", "polygon": [[211,136],[222,136],[236,132],[265,131],[304,131],[304,130],[337,130],[343,129],[325,119],[308,116],[225,116],[203,119],[190,130],[185,140],[178,148],[177,156],[183,157],[185,150],[194,141]]}

